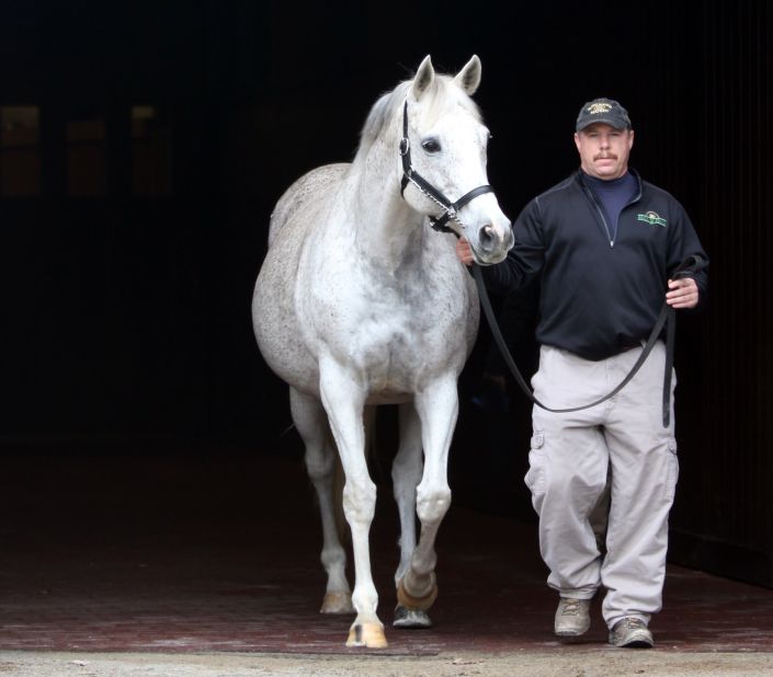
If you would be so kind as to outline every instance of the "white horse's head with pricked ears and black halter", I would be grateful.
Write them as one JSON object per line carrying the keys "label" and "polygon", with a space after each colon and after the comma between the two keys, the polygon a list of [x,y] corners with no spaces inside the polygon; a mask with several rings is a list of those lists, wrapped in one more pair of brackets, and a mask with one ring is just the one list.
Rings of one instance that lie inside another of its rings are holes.
{"label": "white horse's head with pricked ears and black halter", "polygon": [[455,77],[436,73],[430,57],[424,58],[402,106],[400,172],[406,202],[435,218],[451,206],[450,218],[442,221],[467,238],[478,263],[492,264],[504,259],[513,233],[488,186],[490,134],[470,99],[480,70],[477,56]]}

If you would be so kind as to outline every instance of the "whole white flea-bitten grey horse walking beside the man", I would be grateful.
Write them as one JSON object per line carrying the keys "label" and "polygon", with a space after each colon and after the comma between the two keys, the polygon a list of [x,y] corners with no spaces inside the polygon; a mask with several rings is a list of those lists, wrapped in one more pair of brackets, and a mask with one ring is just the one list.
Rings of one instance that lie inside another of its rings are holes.
{"label": "whole white flea-bitten grey horse walking beside the man", "polygon": [[[401,525],[395,624],[429,624],[423,612],[437,594],[434,542],[451,503],[456,383],[475,341],[478,302],[455,239],[431,230],[428,217],[442,216],[464,234],[481,264],[504,259],[513,241],[485,185],[489,133],[469,97],[479,82],[477,56],[456,77],[435,73],[428,56],[413,80],[382,96],[354,160],[310,171],[278,200],[255,284],[258,344],[289,383],[293,421],[319,495],[328,574],[321,611],[351,612],[353,605],[349,646],[387,645],[368,546],[376,486],[363,421],[372,405],[400,404],[391,471]],[[450,205],[446,195],[465,197]],[[345,475],[353,593],[336,528],[336,447]]]}

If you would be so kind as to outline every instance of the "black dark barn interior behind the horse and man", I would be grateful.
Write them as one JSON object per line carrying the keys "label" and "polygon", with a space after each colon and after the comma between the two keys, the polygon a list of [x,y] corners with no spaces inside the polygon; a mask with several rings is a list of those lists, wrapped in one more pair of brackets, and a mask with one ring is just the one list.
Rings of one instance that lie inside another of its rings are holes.
{"label": "black dark barn interior behind the horse and man", "polygon": [[[577,165],[577,110],[607,95],[632,114],[633,164],[692,216],[712,302],[680,323],[672,558],[773,584],[770,3],[397,9],[2,3],[0,447],[297,451],[251,333],[272,205],[303,172],[350,159],[375,99],[424,55],[455,71],[478,54],[505,213]],[[515,489],[525,400],[512,392],[493,418],[469,404],[486,340],[463,378],[452,472],[473,504],[530,518]]]}

